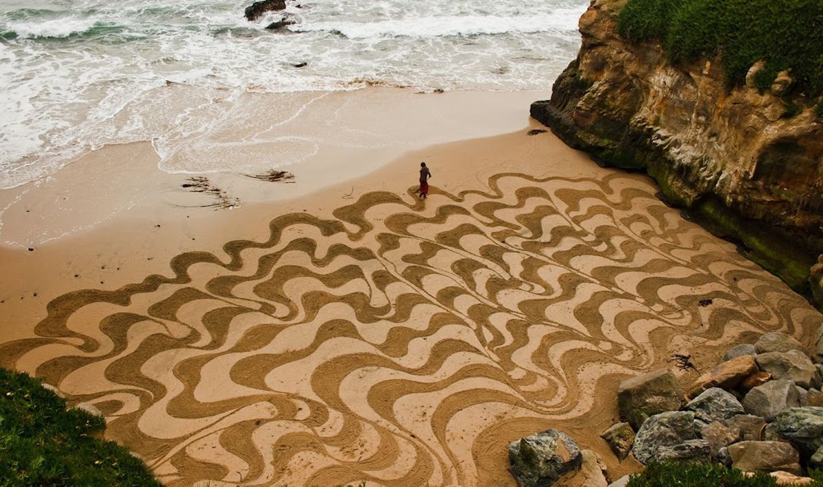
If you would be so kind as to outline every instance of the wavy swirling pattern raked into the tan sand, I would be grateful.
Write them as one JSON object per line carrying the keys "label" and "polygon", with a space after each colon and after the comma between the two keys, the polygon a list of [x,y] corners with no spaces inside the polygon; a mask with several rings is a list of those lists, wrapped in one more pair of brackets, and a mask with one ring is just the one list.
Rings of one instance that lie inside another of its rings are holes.
{"label": "wavy swirling pattern raked into the tan sand", "polygon": [[608,381],[691,353],[678,336],[820,319],[643,179],[486,185],[278,216],[266,242],[53,299],[0,357],[98,406],[168,485],[514,485],[507,443],[593,428]]}

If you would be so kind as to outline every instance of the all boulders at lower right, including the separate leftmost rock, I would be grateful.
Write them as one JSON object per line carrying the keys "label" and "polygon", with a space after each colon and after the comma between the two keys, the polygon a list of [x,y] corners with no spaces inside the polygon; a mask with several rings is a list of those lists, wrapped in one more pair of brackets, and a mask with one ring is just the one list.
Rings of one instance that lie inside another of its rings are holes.
{"label": "all boulders at lower right, including the separate leftmost rock", "polygon": [[[821,355],[807,355],[784,333],[766,333],[735,346],[724,361],[684,393],[668,369],[623,381],[617,390],[621,422],[601,437],[615,456],[653,461],[716,461],[767,472],[778,483],[811,481],[823,468]],[[817,350],[813,350],[816,353]],[[636,431],[636,433],[635,433]],[[597,454],[549,429],[509,445],[510,471],[522,487],[616,487],[607,484]]]}

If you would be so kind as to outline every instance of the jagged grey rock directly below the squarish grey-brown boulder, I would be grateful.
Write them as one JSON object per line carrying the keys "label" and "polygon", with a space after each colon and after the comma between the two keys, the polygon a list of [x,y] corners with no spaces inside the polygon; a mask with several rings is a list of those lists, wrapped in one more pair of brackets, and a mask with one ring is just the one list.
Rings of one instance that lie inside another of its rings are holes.
{"label": "jagged grey rock directly below the squarish grey-brown boulder", "polygon": [[653,415],[644,422],[635,436],[632,452],[644,464],[663,460],[708,460],[709,443],[695,438],[695,413],[668,411]]}

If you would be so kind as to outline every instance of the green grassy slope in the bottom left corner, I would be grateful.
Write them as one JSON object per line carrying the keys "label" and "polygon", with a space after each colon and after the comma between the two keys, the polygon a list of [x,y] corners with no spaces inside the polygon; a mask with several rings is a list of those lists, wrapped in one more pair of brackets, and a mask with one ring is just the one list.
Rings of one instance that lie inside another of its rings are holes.
{"label": "green grassy slope in the bottom left corner", "polygon": [[105,421],[0,369],[0,485],[160,485],[117,443],[100,440]]}

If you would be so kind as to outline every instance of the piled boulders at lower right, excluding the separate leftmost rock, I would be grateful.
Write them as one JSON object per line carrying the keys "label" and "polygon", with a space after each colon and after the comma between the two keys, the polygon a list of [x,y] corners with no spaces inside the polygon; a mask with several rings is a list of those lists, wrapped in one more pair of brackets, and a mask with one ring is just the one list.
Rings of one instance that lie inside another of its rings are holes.
{"label": "piled boulders at lower right, excluding the separate leftmost rock", "polygon": [[[659,370],[621,383],[621,420],[648,416],[631,453],[652,461],[718,461],[742,471],[787,472],[796,478],[823,461],[821,367],[784,333],[766,333],[754,345],[735,346],[682,396],[674,374]],[[665,380],[663,380],[665,378]],[[624,397],[625,396],[625,397]],[[663,400],[662,398],[665,398]],[[650,411],[654,411],[650,414]],[[603,434],[625,457],[626,423]],[[616,434],[621,431],[621,434]],[[790,475],[788,475],[790,474]]]}

